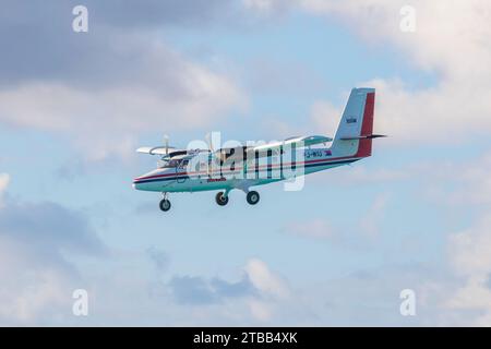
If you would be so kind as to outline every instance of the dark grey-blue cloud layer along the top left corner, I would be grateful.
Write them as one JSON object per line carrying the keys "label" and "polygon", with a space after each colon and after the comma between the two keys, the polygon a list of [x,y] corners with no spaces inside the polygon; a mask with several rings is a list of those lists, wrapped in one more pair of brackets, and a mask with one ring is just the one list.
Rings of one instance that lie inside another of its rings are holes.
{"label": "dark grey-blue cloud layer along the top left corner", "polygon": [[[88,9],[88,33],[76,34],[72,31],[72,9],[79,1],[2,1],[9,11],[0,14],[0,43],[4,51],[0,84],[69,80],[73,84],[92,82],[97,87],[104,82],[139,81],[140,74],[151,77],[158,67],[155,63],[160,64],[155,73],[161,77],[168,62],[165,57],[152,55],[152,45],[163,41],[157,31],[168,25],[208,25],[215,16],[229,11],[228,3],[87,0],[84,5]],[[12,33],[23,40],[16,40]],[[171,67],[168,72],[172,72]]]}

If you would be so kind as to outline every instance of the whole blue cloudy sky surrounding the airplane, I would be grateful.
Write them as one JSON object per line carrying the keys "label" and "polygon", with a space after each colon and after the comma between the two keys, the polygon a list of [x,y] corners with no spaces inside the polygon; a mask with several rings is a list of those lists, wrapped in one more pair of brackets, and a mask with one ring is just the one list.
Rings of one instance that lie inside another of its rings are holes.
{"label": "whole blue cloudy sky surrounding the airplane", "polygon": [[[0,5],[0,325],[491,325],[489,1]],[[164,134],[333,136],[361,86],[388,137],[301,191],[131,186]]]}

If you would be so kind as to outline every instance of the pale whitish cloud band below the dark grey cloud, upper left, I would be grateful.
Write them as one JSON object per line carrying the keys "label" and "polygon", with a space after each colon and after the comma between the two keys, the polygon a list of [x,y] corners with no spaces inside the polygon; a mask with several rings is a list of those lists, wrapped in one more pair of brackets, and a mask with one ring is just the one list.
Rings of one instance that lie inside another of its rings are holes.
{"label": "pale whitish cloud band below the dark grey cloud, upper left", "polygon": [[0,91],[0,119],[63,134],[91,159],[100,159],[111,153],[123,157],[128,152],[133,154],[142,132],[203,128],[228,108],[243,106],[241,93],[227,77],[192,63],[182,68],[184,92],[179,96],[152,86],[89,91],[58,83],[26,83]]}

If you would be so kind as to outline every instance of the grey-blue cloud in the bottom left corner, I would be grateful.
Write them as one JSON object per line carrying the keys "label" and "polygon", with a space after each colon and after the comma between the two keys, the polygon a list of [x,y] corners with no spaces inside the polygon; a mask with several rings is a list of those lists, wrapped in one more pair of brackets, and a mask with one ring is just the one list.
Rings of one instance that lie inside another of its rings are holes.
{"label": "grey-blue cloud in the bottom left corner", "polygon": [[105,252],[81,213],[8,197],[0,207],[0,323],[44,324],[70,315],[80,281],[72,258]]}

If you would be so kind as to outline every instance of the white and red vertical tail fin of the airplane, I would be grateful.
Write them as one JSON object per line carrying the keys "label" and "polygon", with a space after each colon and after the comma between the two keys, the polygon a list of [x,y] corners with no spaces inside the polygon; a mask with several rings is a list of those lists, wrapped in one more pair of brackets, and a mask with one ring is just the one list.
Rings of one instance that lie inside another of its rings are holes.
{"label": "white and red vertical tail fin of the airplane", "polygon": [[374,88],[354,88],[343,112],[333,145],[333,156],[368,157],[372,155]]}

